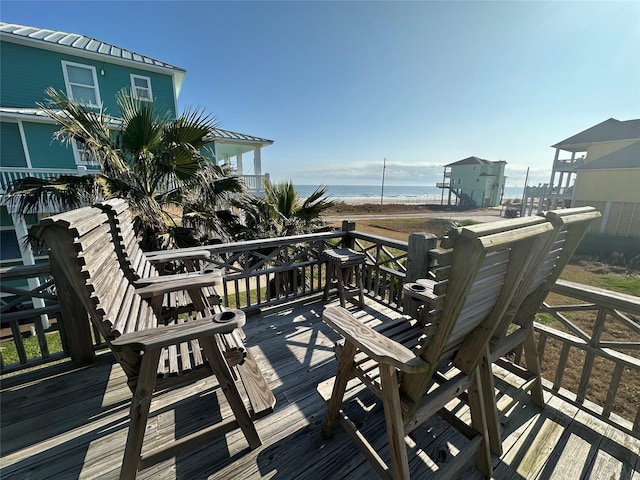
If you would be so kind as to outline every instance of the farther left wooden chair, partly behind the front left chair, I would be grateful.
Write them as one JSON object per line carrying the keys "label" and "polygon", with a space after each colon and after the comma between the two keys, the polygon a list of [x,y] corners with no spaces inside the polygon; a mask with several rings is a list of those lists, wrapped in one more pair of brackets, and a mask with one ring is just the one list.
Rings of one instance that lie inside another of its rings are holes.
{"label": "farther left wooden chair, partly behind the front left chair", "polygon": [[[138,244],[131,211],[125,200],[107,200],[97,203],[95,207],[109,218],[114,245],[125,275],[138,287],[138,294],[151,301],[156,314],[177,315],[193,311],[213,313],[213,307],[220,304],[215,286],[222,283],[222,272],[199,269],[200,263],[210,257],[207,250],[167,250],[165,255],[149,258]],[[180,262],[188,273],[162,275],[165,264],[169,262]]]}

